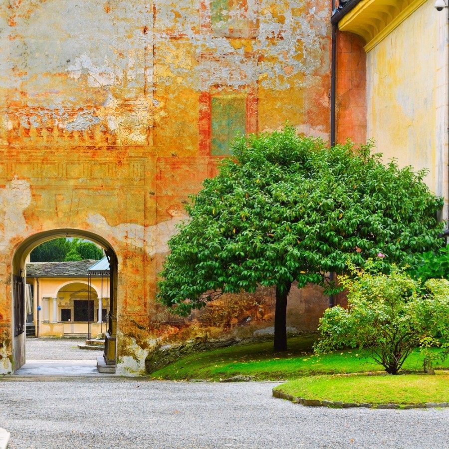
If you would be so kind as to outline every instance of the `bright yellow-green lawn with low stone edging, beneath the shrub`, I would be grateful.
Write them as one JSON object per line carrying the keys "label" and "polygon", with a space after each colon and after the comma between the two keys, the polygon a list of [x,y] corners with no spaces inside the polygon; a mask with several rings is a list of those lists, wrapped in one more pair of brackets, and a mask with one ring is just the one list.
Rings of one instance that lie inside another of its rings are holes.
{"label": "bright yellow-green lawn with low stone edging, beneath the shrub", "polygon": [[294,379],[275,388],[289,395],[320,401],[379,404],[424,404],[449,401],[449,373],[436,376],[313,376]]}

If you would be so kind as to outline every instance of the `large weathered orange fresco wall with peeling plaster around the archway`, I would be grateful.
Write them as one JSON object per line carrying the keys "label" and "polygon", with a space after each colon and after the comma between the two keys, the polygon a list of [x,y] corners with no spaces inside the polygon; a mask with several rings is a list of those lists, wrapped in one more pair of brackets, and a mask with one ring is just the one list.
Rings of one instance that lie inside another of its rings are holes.
{"label": "large weathered orange fresco wall with peeling plaster around the archway", "polygon": [[[166,241],[235,131],[288,119],[328,139],[329,13],[311,0],[2,2],[0,373],[23,362],[13,255],[40,232],[91,232],[117,254],[119,373],[143,370],[158,341],[235,327],[155,305]],[[257,295],[251,332],[272,324],[271,293]]]}

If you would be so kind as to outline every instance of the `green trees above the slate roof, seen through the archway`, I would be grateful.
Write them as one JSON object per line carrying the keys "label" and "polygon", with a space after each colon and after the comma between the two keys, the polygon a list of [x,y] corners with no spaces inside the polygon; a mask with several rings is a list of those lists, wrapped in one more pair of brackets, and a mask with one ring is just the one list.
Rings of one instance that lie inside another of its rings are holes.
{"label": "green trees above the slate roof, seen through the archway", "polygon": [[30,253],[31,262],[73,262],[79,260],[99,260],[103,251],[95,243],[81,238],[54,238],[48,240]]}

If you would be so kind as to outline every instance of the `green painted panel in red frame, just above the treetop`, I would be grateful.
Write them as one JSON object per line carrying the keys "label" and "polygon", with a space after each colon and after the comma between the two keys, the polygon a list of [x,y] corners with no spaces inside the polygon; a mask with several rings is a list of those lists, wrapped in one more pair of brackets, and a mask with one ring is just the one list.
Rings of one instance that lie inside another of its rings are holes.
{"label": "green painted panel in red frame, just above the treetop", "polygon": [[212,146],[213,156],[231,154],[229,142],[237,132],[245,133],[246,100],[234,95],[212,97]]}

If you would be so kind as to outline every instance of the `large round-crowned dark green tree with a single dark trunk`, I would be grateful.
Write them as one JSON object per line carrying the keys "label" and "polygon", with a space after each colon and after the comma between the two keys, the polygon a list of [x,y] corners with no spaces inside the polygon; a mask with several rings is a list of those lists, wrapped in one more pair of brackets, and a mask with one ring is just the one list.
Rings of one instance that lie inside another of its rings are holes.
{"label": "large round-crowned dark green tree with a single dark trunk", "polygon": [[224,293],[275,286],[274,350],[282,351],[293,281],[337,292],[326,273],[344,272],[348,259],[363,265],[382,252],[387,266],[441,246],[443,200],[423,182],[426,171],[383,165],[371,147],[328,148],[290,126],[237,138],[169,241],[159,301],[188,315]]}

